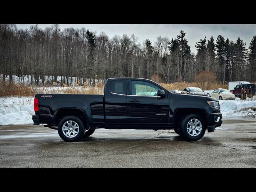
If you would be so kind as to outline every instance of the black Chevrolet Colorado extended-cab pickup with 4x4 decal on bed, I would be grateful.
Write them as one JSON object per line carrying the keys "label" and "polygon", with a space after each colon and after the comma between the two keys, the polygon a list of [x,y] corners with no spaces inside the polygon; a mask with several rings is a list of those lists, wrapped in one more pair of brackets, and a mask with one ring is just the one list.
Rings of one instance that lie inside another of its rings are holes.
{"label": "black Chevrolet Colorado extended-cab pickup with 4x4 decal on bed", "polygon": [[103,95],[36,94],[34,110],[34,125],[57,129],[67,142],[90,136],[96,128],[174,129],[194,141],[222,124],[217,99],[173,94],[141,78],[108,79]]}

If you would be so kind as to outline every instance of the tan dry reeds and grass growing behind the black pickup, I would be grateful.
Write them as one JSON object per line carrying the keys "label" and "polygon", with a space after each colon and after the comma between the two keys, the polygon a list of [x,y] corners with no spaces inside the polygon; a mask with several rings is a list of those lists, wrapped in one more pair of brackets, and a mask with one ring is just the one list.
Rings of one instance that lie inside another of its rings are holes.
{"label": "tan dry reeds and grass growing behind the black pickup", "polygon": [[[175,82],[175,83],[160,83],[167,90],[179,89],[183,90],[185,87],[200,87],[206,90],[206,84],[201,83],[200,85],[196,82]],[[208,85],[210,89],[216,88],[228,88],[228,84],[222,83],[210,83]],[[10,82],[0,81],[0,96],[34,96],[35,94],[103,94],[104,84],[98,84],[97,86],[42,86],[42,87],[31,87],[24,84],[16,84]]]}

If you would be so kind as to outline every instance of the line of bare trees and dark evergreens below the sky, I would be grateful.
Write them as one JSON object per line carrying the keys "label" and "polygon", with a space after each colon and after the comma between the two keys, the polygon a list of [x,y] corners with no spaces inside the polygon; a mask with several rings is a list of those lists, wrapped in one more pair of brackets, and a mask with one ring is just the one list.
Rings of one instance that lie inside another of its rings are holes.
{"label": "line of bare trees and dark evergreens below the sky", "polygon": [[12,75],[33,75],[35,84],[44,76],[64,76],[66,84],[74,83],[69,77],[81,84],[82,78],[112,77],[193,82],[204,71],[219,82],[256,82],[256,36],[248,48],[240,37],[233,42],[221,35],[216,40],[205,36],[195,47],[196,54],[182,30],[175,38],[158,36],[154,43],[146,39],[141,44],[134,34],[110,38],[86,28],[61,30],[58,24],[45,29],[1,24],[0,70],[4,81],[6,76],[12,81]]}

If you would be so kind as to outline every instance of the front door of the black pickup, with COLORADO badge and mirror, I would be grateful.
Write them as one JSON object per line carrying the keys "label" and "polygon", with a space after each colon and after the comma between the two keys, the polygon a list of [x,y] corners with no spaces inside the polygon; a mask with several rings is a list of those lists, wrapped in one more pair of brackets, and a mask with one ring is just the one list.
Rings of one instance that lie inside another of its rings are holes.
{"label": "front door of the black pickup, with COLORADO badge and mirror", "polygon": [[169,96],[159,98],[157,91],[162,89],[145,80],[128,80],[127,120],[135,125],[159,125],[168,123]]}

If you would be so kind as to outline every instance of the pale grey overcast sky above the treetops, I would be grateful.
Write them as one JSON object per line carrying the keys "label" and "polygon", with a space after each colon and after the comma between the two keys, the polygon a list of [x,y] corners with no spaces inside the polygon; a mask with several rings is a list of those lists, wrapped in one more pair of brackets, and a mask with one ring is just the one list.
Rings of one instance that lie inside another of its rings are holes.
{"label": "pale grey overcast sky above the treetops", "polygon": [[[17,24],[18,28],[29,28],[32,24]],[[39,28],[46,28],[51,24],[38,24]],[[115,34],[128,36],[135,34],[139,42],[146,39],[154,42],[157,36],[167,36],[176,38],[180,30],[186,32],[186,39],[191,47],[191,51],[196,53],[195,44],[206,36],[207,40],[211,36],[216,40],[218,35],[236,41],[238,36],[246,43],[248,48],[252,37],[256,35],[256,24],[60,24],[60,28],[81,28],[96,31],[96,34],[105,32],[110,38]]]}

